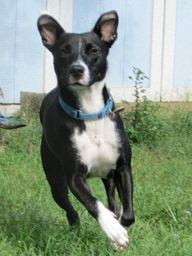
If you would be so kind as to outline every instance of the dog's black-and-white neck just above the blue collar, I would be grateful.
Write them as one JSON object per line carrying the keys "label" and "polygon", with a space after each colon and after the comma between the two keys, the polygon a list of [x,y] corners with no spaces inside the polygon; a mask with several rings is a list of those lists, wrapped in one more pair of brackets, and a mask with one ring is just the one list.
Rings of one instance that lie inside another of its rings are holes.
{"label": "dog's black-and-white neck just above the blue collar", "polygon": [[101,110],[108,100],[106,78],[95,82],[90,87],[62,87],[58,84],[59,94],[63,101],[73,108],[86,113],[94,113]]}

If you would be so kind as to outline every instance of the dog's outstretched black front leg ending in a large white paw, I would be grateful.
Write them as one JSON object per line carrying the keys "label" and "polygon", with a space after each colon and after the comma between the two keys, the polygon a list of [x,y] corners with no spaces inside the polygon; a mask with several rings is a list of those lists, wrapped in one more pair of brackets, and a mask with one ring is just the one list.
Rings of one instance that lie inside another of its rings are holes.
{"label": "dog's outstretched black front leg ending in a large white paw", "polygon": [[102,231],[112,243],[119,246],[127,246],[129,239],[127,231],[115,219],[115,215],[91,195],[90,188],[86,183],[86,177],[77,172],[68,176],[68,185],[73,195],[86,207],[88,212],[98,221]]}

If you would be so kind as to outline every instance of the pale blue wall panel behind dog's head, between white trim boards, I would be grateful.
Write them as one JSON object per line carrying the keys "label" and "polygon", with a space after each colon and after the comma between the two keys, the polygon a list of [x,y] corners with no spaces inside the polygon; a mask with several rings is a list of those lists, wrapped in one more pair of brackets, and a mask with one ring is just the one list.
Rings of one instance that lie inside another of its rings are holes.
{"label": "pale blue wall panel behind dog's head, between white trim boards", "polygon": [[152,0],[74,0],[75,33],[90,31],[104,12],[118,12],[118,39],[108,58],[110,87],[133,86],[128,78],[133,66],[150,76],[152,4]]}

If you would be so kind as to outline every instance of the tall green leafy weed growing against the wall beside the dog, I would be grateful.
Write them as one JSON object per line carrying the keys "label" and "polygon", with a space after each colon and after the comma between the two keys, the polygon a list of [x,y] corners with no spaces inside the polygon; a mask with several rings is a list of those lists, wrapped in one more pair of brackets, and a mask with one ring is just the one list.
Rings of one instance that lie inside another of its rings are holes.
{"label": "tall green leafy weed growing against the wall beside the dog", "polygon": [[[135,104],[124,115],[126,132],[133,142],[154,141],[161,138],[165,133],[165,122],[159,117],[159,110],[162,108],[157,102],[147,99],[143,89],[144,79],[149,79],[145,74],[133,67],[135,77],[129,76],[135,82]],[[129,103],[123,101],[124,103]]]}

